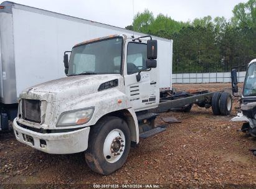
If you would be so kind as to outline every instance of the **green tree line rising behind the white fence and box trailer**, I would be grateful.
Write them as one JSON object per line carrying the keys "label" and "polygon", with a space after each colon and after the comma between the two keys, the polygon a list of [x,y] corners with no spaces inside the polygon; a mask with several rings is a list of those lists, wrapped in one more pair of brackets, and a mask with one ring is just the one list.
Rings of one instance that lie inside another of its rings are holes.
{"label": "green tree line rising behind the white fence and box trailer", "polygon": [[237,4],[230,20],[178,22],[145,10],[126,29],[173,39],[173,72],[230,71],[256,58],[256,0]]}

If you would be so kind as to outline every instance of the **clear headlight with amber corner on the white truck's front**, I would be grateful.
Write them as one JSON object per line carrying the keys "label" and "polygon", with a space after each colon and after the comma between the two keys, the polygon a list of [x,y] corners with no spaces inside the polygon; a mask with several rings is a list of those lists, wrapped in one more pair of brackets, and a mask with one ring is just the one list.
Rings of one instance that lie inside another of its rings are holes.
{"label": "clear headlight with amber corner on the white truck's front", "polygon": [[57,123],[57,127],[85,124],[92,118],[93,111],[94,108],[86,108],[62,113]]}

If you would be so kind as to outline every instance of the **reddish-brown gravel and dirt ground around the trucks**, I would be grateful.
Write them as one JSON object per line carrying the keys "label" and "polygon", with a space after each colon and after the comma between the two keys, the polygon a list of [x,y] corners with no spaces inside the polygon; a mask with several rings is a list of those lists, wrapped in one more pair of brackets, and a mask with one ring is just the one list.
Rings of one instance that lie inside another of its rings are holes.
{"label": "reddish-brown gravel and dirt ground around the trucks", "polygon": [[[230,88],[230,83],[174,87],[217,91]],[[141,139],[125,165],[108,176],[93,173],[83,153],[45,154],[17,142],[12,133],[0,134],[0,188],[256,188],[256,157],[249,152],[256,147],[255,139],[237,132],[241,123],[230,122],[238,106],[234,99],[230,116],[214,116],[211,108],[196,105],[190,113],[160,114],[157,124],[168,125],[161,121],[168,116],[182,122]]]}

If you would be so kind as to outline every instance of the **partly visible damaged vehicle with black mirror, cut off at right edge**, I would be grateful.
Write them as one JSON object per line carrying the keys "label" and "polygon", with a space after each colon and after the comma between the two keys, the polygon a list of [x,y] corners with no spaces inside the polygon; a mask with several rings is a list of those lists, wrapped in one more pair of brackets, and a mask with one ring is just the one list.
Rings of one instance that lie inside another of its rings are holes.
{"label": "partly visible damaged vehicle with black mirror, cut off at right edge", "polygon": [[[232,91],[234,96],[237,96],[235,94],[238,93],[236,69],[232,69],[231,77]],[[231,121],[244,122],[241,131],[256,137],[256,59],[247,66],[242,96],[240,96],[240,108],[241,112]]]}

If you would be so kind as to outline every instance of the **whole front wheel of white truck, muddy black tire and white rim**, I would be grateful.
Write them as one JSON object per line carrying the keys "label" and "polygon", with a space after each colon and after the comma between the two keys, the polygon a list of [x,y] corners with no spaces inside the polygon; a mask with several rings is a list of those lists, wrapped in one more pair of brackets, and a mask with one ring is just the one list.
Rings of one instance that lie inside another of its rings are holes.
{"label": "whole front wheel of white truck, muddy black tire and white rim", "polygon": [[130,145],[126,122],[117,117],[106,117],[91,128],[85,160],[94,172],[109,175],[125,164]]}

